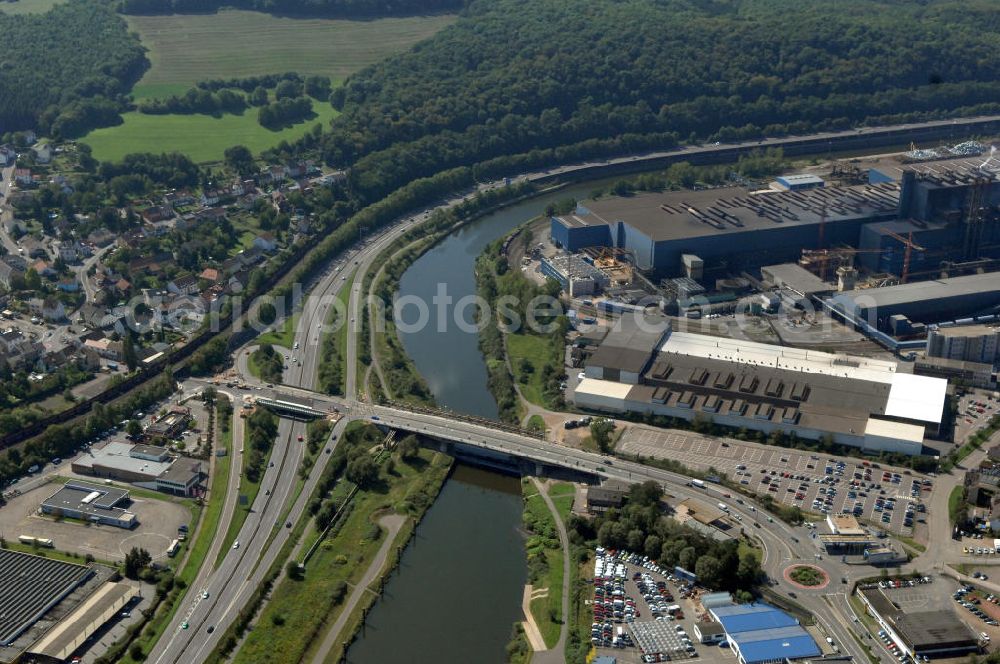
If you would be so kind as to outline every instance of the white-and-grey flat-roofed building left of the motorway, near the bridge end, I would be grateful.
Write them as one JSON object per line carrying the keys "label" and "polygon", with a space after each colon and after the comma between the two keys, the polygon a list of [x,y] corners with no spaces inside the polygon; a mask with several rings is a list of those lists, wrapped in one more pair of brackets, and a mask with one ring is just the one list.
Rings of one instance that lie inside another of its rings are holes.
{"label": "white-and-grey flat-roofed building left of the motorway, near the bridge end", "polygon": [[172,456],[163,447],[110,442],[73,461],[74,473],[103,477],[176,496],[191,496],[204,477],[199,459]]}

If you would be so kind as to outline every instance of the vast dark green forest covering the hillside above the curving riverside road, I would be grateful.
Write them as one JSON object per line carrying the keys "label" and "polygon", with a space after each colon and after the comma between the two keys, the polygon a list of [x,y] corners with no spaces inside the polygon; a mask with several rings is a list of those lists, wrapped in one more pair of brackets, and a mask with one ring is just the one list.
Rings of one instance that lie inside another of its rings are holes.
{"label": "vast dark green forest covering the hillside above the curving riverside road", "polygon": [[334,89],[343,114],[320,148],[373,201],[489,160],[480,176],[678,140],[996,112],[1000,59],[984,54],[997,27],[986,0],[478,0]]}

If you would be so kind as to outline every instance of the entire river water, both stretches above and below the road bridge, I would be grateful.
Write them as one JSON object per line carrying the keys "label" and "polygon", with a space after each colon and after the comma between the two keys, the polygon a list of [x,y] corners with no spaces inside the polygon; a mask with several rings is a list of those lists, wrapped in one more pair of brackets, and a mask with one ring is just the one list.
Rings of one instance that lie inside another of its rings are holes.
{"label": "entire river water, both stretches above and below the road bridge", "polygon": [[[472,222],[421,256],[403,273],[399,296],[430,307],[430,324],[400,329],[406,352],[427,380],[438,405],[496,419],[486,387],[478,336],[455,324],[455,307],[444,307],[437,324],[432,304],[444,294],[456,303],[475,295],[476,258],[486,246],[541,214],[550,202],[586,198],[607,181],[574,185],[512,205]],[[463,317],[475,324],[469,307]],[[415,308],[402,308],[414,323]],[[402,658],[414,664],[502,664],[512,624],[523,619],[527,581],[521,525],[521,487],[516,478],[458,466],[428,510],[403,554],[400,574],[368,616],[363,635],[348,651],[352,664],[383,664]]]}

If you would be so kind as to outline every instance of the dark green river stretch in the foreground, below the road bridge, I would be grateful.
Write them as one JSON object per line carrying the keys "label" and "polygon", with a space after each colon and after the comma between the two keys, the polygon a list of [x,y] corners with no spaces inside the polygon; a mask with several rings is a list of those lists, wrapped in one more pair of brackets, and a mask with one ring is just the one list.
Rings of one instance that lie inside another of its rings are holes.
{"label": "dark green river stretch in the foreground, below the road bridge", "polygon": [[527,579],[517,478],[456,466],[351,646],[352,664],[503,664]]}

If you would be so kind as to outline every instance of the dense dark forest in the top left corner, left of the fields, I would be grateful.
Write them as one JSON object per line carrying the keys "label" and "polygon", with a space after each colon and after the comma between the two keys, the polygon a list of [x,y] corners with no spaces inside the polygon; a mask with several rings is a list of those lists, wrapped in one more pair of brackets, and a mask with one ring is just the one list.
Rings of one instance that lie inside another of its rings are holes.
{"label": "dense dark forest in the top left corner, left of the fields", "polygon": [[139,40],[103,0],[61,3],[44,14],[0,12],[0,133],[35,129],[75,137],[119,121],[146,69]]}

